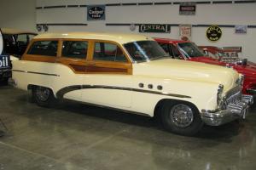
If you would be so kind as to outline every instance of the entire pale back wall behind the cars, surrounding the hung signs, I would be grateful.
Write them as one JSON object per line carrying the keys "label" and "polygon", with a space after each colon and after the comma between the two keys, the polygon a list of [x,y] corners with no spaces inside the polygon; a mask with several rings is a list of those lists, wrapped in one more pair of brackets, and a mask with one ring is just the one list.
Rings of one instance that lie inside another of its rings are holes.
{"label": "entire pale back wall behind the cars, surrounding the hung signs", "polygon": [[[177,2],[177,0],[170,1]],[[35,31],[36,23],[86,23],[88,26],[49,26],[49,31],[131,32],[129,26],[105,26],[105,23],[256,25],[256,3],[197,4],[195,16],[179,15],[179,5],[114,6],[106,7],[106,20],[101,21],[87,21],[86,8],[35,9],[41,6],[68,4],[148,2],[168,2],[168,0],[0,0],[0,27]],[[192,40],[199,45],[242,46],[243,55],[256,62],[256,54],[253,50],[256,44],[256,28],[248,28],[247,34],[243,35],[235,34],[233,28],[222,28],[223,36],[218,42],[207,40],[206,29],[206,27],[193,27]],[[137,33],[138,30],[133,32]],[[178,28],[172,26],[170,34],[147,35],[178,38]]]}

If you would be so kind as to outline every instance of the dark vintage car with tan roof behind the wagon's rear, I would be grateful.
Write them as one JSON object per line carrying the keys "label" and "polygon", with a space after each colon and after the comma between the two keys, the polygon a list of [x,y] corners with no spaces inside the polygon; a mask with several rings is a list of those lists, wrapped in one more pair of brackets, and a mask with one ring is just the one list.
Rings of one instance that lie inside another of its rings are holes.
{"label": "dark vintage car with tan roof behind the wagon's rear", "polygon": [[20,59],[24,54],[28,43],[37,33],[21,31],[11,28],[1,28],[3,34],[3,53],[13,55]]}

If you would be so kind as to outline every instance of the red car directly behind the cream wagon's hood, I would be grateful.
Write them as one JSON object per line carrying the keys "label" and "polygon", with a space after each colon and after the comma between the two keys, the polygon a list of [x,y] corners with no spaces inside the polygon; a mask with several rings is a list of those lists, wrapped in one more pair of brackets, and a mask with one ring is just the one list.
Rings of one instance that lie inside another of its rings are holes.
{"label": "red car directly behind the cream wagon's hood", "polygon": [[166,53],[174,59],[187,59],[196,62],[203,62],[212,65],[223,65],[233,67],[236,71],[245,76],[242,88],[243,94],[256,94],[256,67],[253,65],[236,65],[212,59],[201,52],[194,42],[175,40],[168,38],[154,38]]}

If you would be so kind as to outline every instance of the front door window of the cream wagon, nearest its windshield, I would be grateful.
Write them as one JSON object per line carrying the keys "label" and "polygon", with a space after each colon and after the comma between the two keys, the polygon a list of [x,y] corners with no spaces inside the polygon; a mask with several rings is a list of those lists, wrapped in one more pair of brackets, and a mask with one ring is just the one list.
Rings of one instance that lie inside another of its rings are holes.
{"label": "front door window of the cream wagon, nearest its windshield", "polygon": [[105,60],[115,62],[126,62],[123,51],[113,43],[96,42],[93,54],[94,60]]}

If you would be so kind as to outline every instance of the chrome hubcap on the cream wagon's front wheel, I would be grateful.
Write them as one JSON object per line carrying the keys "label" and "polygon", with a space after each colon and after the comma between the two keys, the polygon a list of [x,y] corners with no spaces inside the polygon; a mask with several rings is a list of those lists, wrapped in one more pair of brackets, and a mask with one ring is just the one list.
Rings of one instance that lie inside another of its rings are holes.
{"label": "chrome hubcap on the cream wagon's front wheel", "polygon": [[177,127],[188,127],[194,120],[193,111],[189,105],[174,105],[170,111],[170,116]]}

